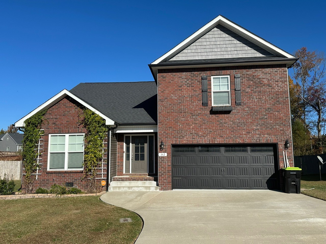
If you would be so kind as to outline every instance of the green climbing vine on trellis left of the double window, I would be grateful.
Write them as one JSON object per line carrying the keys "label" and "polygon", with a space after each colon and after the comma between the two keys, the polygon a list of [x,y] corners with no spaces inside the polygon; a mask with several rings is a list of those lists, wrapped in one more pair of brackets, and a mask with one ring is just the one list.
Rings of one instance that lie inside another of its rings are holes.
{"label": "green climbing vine on trellis left of the double window", "polygon": [[43,135],[43,131],[40,130],[41,125],[43,123],[44,117],[43,115],[47,110],[39,112],[30,118],[24,121],[24,128],[22,131],[24,132],[23,139],[23,166],[25,168],[25,178],[24,185],[26,194],[33,192],[33,185],[35,180],[35,175],[32,175],[36,172],[38,165],[36,164],[36,158],[38,156],[38,152],[35,150],[36,144],[38,144],[41,135]]}

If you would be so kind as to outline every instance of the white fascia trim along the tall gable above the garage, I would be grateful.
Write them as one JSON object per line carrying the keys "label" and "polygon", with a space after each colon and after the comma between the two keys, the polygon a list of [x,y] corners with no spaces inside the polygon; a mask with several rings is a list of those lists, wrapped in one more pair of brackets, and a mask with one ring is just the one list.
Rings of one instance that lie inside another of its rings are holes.
{"label": "white fascia trim along the tall gable above the garage", "polygon": [[264,39],[260,38],[259,36],[250,33],[249,31],[245,30],[241,26],[239,26],[239,25],[231,22],[230,20],[227,20],[223,16],[219,15],[214,20],[210,21],[209,23],[207,23],[206,25],[201,27],[194,34],[192,34],[191,36],[186,38],[184,41],[179,43],[177,46],[173,47],[170,51],[168,51],[166,54],[164,54],[163,56],[161,56],[160,58],[158,58],[157,60],[155,60],[151,64],[158,64],[161,61],[165,61],[171,54],[181,51],[181,49],[183,49],[187,45],[190,45],[192,42],[197,40],[200,36],[202,36],[203,34],[208,32],[210,29],[212,29],[217,24],[221,24],[221,25],[231,29],[231,31],[243,36],[246,39],[251,37],[252,39],[257,41],[257,43],[255,43],[255,44],[257,44],[257,45],[258,45],[258,43],[260,44],[258,46],[269,47],[270,49],[274,50],[276,53],[279,53],[279,54],[281,54],[281,55],[283,55],[283,56],[285,56],[287,58],[295,58],[291,54],[283,51],[282,49],[280,49],[280,48],[274,46],[273,44],[265,41]]}

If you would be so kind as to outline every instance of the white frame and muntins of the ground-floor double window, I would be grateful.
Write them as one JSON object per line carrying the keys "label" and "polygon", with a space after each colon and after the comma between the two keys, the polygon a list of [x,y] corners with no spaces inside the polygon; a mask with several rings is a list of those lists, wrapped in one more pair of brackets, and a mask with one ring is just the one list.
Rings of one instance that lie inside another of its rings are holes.
{"label": "white frame and muntins of the ground-floor double window", "polygon": [[[50,146],[51,146],[51,136],[65,136],[65,151],[64,152],[50,152]],[[49,146],[48,146],[48,170],[49,171],[72,171],[72,170],[83,170],[83,167],[80,169],[68,169],[68,146],[69,146],[69,136],[73,135],[83,135],[83,138],[85,139],[85,133],[67,133],[67,134],[49,134]],[[79,152],[81,151],[74,151],[74,152]],[[83,143],[83,158],[84,158],[84,153],[85,153],[85,144]],[[64,169],[50,169],[50,154],[51,153],[65,153],[65,168]]]}

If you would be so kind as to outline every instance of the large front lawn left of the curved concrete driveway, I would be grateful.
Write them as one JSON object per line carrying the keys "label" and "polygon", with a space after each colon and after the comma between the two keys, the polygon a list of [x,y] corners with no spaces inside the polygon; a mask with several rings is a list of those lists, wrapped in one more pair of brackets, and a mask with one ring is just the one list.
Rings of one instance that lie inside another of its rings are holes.
{"label": "large front lawn left of the curved concrete driveway", "polygon": [[142,229],[136,213],[97,196],[2,200],[0,216],[1,244],[134,243]]}

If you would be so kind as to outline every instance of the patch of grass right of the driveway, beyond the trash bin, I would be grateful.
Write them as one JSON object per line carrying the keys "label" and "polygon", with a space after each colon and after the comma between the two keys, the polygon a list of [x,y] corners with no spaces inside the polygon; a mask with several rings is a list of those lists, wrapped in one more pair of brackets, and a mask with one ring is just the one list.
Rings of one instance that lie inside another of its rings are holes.
{"label": "patch of grass right of the driveway, beyond the trash bin", "polygon": [[322,174],[321,179],[322,181],[320,181],[319,175],[303,175],[301,177],[301,188],[315,189],[304,190],[301,193],[326,201],[326,174]]}

